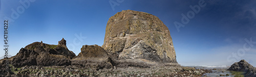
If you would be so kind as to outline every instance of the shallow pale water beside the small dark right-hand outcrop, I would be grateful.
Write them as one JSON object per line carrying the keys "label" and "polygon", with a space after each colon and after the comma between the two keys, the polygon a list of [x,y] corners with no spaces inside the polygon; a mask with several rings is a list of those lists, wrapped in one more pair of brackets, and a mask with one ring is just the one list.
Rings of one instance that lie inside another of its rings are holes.
{"label": "shallow pale water beside the small dark right-hand outcrop", "polygon": [[[232,75],[231,71],[228,71],[227,69],[229,68],[229,66],[225,66],[225,65],[218,65],[218,66],[189,66],[189,67],[195,67],[197,69],[212,69],[210,73],[205,73],[204,75],[206,76],[220,76],[220,74],[225,75],[225,77],[232,77],[234,75]],[[215,69],[215,70],[213,70]],[[229,74],[229,75],[226,75]],[[224,76],[223,76],[224,77]]]}

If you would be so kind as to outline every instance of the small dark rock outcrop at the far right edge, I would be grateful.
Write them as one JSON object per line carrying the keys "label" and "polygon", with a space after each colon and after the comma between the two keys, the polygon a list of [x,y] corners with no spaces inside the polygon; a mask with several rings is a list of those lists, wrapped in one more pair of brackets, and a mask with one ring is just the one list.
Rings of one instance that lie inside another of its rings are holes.
{"label": "small dark rock outcrop at the far right edge", "polygon": [[227,70],[231,71],[244,71],[245,76],[256,76],[256,68],[245,60],[241,60],[232,64]]}

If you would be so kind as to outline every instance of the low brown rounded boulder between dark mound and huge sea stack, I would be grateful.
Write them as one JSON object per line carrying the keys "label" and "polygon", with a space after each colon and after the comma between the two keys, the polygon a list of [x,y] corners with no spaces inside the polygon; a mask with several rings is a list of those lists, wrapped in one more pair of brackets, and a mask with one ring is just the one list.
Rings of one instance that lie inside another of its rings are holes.
{"label": "low brown rounded boulder between dark mound and huge sea stack", "polygon": [[81,52],[71,61],[72,65],[93,68],[96,70],[113,67],[108,53],[98,45],[83,45]]}

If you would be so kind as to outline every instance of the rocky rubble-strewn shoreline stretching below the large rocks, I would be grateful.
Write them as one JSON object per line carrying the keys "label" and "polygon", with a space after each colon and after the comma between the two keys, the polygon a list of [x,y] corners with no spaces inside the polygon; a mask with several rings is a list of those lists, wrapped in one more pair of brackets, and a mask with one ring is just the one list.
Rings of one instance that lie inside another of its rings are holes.
{"label": "rocky rubble-strewn shoreline stretching below the large rocks", "polygon": [[208,69],[183,67],[177,64],[152,67],[114,67],[99,70],[79,66],[24,66],[11,67],[13,74],[1,76],[201,76],[210,72]]}

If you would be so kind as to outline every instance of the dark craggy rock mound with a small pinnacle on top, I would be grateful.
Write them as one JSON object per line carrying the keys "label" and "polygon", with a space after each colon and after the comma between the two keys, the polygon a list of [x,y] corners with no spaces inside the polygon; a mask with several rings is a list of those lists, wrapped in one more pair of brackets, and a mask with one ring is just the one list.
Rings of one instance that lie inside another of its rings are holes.
{"label": "dark craggy rock mound with a small pinnacle on top", "polygon": [[76,55],[66,47],[66,41],[62,38],[58,45],[48,45],[42,42],[32,43],[19,50],[11,61],[15,67],[25,65],[53,66],[70,65],[70,59]]}

